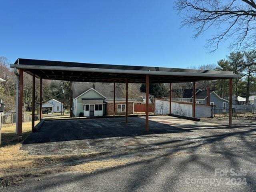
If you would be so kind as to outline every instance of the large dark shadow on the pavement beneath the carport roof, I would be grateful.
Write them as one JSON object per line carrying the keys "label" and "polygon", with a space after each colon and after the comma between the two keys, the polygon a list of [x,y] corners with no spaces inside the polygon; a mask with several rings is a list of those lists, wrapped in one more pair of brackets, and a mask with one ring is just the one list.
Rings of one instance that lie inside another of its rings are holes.
{"label": "large dark shadow on the pavement beneath the carport roof", "polygon": [[129,137],[148,134],[164,134],[189,132],[181,127],[149,121],[150,131],[145,131],[145,120],[138,117],[45,120],[44,125],[36,133],[31,133],[23,144],[61,142],[110,137]]}

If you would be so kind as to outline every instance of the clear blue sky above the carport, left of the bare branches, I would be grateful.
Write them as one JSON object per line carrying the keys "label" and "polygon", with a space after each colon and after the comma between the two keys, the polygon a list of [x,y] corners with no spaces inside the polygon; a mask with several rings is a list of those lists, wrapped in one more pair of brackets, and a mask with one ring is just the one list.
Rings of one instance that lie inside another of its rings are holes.
{"label": "clear blue sky above the carport, left of the bare branches", "polygon": [[2,0],[0,56],[187,68],[229,54],[180,22],[173,0]]}

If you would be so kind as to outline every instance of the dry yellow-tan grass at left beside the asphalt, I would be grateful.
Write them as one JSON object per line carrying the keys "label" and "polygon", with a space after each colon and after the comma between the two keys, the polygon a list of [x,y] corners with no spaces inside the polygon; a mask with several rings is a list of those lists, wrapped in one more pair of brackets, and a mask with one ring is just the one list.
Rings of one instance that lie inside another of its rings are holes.
{"label": "dry yellow-tan grass at left beside the asphalt", "polygon": [[[36,122],[37,123],[37,122]],[[56,172],[76,171],[90,173],[96,170],[122,166],[130,161],[118,159],[93,160],[104,153],[72,155],[29,155],[20,150],[22,143],[17,142],[15,124],[5,124],[1,130],[0,147],[0,187],[21,183],[24,177],[41,176]],[[23,123],[23,138],[31,132],[31,122]],[[91,161],[83,161],[88,158]]]}

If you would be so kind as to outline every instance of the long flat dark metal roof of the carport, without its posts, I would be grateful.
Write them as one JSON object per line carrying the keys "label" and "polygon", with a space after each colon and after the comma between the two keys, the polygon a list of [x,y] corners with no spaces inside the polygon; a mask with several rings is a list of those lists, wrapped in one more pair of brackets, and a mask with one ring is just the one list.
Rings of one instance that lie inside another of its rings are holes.
{"label": "long flat dark metal roof of the carport, without its posts", "polygon": [[90,64],[22,58],[17,59],[10,67],[24,69],[28,74],[35,74],[38,78],[73,82],[124,83],[125,79],[128,78],[129,83],[145,83],[146,74],[150,75],[150,83],[194,82],[240,77],[230,71]]}

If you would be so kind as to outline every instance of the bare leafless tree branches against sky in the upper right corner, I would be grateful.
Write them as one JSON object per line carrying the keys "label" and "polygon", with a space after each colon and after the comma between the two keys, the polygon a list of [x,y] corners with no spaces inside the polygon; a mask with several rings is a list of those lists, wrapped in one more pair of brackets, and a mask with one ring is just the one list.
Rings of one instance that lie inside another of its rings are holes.
{"label": "bare leafless tree branches against sky in the upper right corner", "polygon": [[174,9],[182,26],[194,27],[194,38],[213,28],[208,39],[210,52],[232,37],[230,48],[256,48],[256,4],[254,0],[176,0]]}

